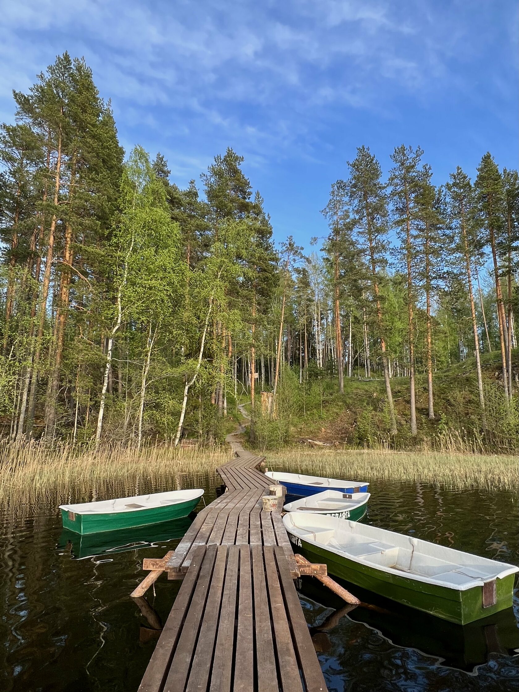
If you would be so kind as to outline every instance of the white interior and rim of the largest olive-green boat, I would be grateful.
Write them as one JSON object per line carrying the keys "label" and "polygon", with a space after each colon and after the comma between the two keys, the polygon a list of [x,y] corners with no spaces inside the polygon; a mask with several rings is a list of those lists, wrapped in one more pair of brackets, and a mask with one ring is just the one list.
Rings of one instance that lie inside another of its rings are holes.
{"label": "white interior and rim of the largest olive-green boat", "polygon": [[310,512],[285,514],[289,534],[381,572],[456,590],[519,572],[519,567],[394,531]]}

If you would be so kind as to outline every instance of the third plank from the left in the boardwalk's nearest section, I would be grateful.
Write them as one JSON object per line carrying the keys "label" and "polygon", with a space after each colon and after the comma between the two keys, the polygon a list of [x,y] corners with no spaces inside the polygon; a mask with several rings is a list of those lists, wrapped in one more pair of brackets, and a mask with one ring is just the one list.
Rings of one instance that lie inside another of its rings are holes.
{"label": "third plank from the left in the boardwalk's nearest section", "polygon": [[220,603],[224,590],[226,562],[227,548],[224,545],[219,545],[186,692],[206,690],[208,686],[212,655],[215,650]]}

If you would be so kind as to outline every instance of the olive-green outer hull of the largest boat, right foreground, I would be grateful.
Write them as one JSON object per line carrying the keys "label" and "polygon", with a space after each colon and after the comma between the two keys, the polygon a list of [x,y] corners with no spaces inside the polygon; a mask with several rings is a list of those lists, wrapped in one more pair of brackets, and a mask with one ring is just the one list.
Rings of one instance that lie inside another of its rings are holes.
{"label": "olive-green outer hull of the largest boat, right foreground", "polygon": [[459,591],[437,584],[415,581],[349,560],[325,547],[307,543],[293,534],[289,534],[289,538],[309,561],[326,563],[329,574],[381,594],[392,601],[409,605],[411,608],[417,608],[450,622],[465,625],[504,608],[510,608],[512,605],[515,574],[495,580],[495,604],[483,608],[481,586]]}

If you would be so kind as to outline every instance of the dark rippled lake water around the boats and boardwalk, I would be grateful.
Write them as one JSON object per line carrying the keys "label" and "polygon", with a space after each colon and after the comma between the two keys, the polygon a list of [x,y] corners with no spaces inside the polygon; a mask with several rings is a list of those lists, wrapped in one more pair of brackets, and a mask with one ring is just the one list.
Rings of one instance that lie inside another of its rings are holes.
{"label": "dark rippled lake water around the boats and boardwalk", "polygon": [[[204,487],[206,502],[216,484],[212,476],[182,480]],[[138,491],[163,489],[149,482]],[[519,565],[515,493],[390,482],[370,489],[367,522]],[[1,690],[136,691],[179,590],[180,582],[159,580],[147,594],[154,609],[147,618],[128,595],[143,578],[143,558],[174,549],[190,520],[80,540],[62,532],[57,511],[74,499],[1,510]],[[462,628],[358,588],[371,607],[348,612],[316,580],[298,586],[330,691],[519,691],[517,592],[515,612]]]}

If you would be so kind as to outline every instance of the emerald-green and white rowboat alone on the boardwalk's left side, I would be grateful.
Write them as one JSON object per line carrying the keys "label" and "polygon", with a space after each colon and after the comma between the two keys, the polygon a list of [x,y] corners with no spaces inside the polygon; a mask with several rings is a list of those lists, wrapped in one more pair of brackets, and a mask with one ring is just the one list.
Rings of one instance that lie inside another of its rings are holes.
{"label": "emerald-green and white rowboat alone on the boardwalk's left side", "polygon": [[134,495],[132,498],[61,504],[64,529],[76,534],[97,534],[180,519],[193,511],[203,490]]}

